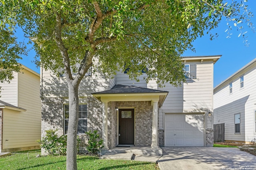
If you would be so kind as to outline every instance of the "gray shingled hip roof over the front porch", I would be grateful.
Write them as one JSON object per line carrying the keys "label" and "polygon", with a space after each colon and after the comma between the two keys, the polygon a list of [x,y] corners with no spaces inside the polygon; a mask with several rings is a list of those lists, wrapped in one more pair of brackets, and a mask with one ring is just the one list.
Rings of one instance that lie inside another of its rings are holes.
{"label": "gray shingled hip roof over the front porch", "polygon": [[105,90],[102,92],[96,92],[92,94],[133,94],[133,93],[168,93],[164,90],[154,90],[150,88],[138,87],[138,86],[125,86],[125,85],[115,85],[110,90]]}

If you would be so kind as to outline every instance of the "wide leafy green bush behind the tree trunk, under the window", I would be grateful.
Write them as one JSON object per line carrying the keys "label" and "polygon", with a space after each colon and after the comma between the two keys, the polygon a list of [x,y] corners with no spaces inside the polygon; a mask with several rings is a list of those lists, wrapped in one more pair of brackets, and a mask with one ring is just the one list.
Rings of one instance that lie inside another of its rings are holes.
{"label": "wide leafy green bush behind the tree trunk, under the window", "polygon": [[[38,140],[40,147],[46,150],[48,155],[61,154],[66,155],[67,152],[67,135],[61,135],[60,137],[56,134],[58,129],[50,129],[46,131],[46,137],[42,137],[42,140]],[[80,145],[80,138],[77,137],[77,148]]]}

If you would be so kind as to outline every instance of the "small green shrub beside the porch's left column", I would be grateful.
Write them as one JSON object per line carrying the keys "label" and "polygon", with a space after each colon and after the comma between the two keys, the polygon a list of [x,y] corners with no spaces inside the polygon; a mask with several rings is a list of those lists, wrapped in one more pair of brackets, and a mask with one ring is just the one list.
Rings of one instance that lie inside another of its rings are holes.
{"label": "small green shrub beside the porch's left column", "polygon": [[[88,131],[85,133],[88,136],[88,145],[87,150],[90,154],[96,154],[100,149],[102,149],[104,146],[102,145],[103,140],[100,139],[100,135],[98,134],[98,131]],[[95,149],[92,149],[95,148]]]}

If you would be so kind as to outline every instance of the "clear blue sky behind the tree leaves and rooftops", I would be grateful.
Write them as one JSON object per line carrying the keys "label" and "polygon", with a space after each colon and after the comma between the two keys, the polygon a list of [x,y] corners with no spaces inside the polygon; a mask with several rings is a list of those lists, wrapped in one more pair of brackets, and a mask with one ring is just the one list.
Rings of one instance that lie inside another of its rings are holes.
{"label": "clear blue sky behind the tree leaves and rooftops", "polygon": [[[254,14],[252,22],[256,27],[256,0],[248,0],[245,2],[248,5],[250,12]],[[256,58],[256,33],[253,33],[248,27],[244,26],[244,30],[248,31],[246,35],[249,47],[245,46],[243,43],[242,36],[238,37],[239,31],[236,30],[234,25],[232,26],[231,38],[226,38],[228,35],[225,32],[227,29],[227,21],[222,20],[218,28],[212,30],[212,33],[218,33],[218,37],[210,40],[210,36],[205,34],[203,37],[199,37],[193,42],[196,52],[191,50],[185,51],[182,56],[204,56],[204,55],[222,55],[222,57],[214,64],[214,87],[224,81],[226,78],[231,76],[234,72],[242,68],[244,65]],[[240,23],[242,25],[242,23]],[[25,43],[28,38],[24,38],[22,31],[17,30],[17,35],[20,41]],[[23,57],[19,61],[24,66],[40,72],[39,68],[32,62],[34,61],[35,52],[30,51],[28,56]]]}

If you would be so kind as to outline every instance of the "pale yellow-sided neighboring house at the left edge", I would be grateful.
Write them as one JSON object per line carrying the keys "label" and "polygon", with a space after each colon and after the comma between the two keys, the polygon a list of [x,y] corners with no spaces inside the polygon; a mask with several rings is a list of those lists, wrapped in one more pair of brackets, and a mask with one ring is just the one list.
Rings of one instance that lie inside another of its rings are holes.
{"label": "pale yellow-sided neighboring house at the left edge", "polygon": [[0,86],[0,152],[40,149],[40,74],[22,65]]}

